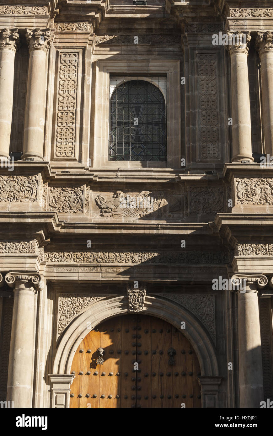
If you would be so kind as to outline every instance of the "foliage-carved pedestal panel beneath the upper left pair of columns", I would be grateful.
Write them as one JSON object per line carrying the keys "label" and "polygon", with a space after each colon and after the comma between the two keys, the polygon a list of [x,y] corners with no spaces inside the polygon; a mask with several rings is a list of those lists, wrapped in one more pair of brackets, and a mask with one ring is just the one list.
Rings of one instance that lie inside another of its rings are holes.
{"label": "foliage-carved pedestal panel beneath the upper left pair of columns", "polygon": [[37,201],[38,175],[0,176],[0,202]]}

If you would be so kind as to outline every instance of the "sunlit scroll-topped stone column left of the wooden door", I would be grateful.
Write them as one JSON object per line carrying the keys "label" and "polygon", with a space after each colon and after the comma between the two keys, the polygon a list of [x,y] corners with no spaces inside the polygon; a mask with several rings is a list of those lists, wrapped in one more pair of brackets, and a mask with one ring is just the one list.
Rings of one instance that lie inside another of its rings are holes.
{"label": "sunlit scroll-topped stone column left of the wooden door", "polygon": [[34,295],[43,282],[37,272],[9,272],[7,284],[14,288],[7,401],[14,407],[32,407],[34,361]]}

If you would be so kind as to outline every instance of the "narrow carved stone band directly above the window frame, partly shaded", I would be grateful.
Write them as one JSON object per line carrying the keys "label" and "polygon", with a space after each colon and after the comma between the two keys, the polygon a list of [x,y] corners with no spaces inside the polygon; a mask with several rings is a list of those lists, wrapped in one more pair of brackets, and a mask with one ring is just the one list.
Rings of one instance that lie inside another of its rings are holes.
{"label": "narrow carved stone band directly above the window frame, partly shaded", "polygon": [[[147,35],[140,34],[138,35],[139,41],[138,44],[180,44],[181,35]],[[133,44],[133,36],[130,35],[96,35],[95,37],[96,44],[125,44],[131,45]]]}

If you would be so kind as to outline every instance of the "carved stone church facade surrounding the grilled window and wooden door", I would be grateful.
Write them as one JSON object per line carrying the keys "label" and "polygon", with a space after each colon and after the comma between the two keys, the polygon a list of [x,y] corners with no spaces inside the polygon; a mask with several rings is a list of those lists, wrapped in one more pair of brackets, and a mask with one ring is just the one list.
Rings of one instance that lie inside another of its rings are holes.
{"label": "carved stone church facade surrounding the grilled window and wooden door", "polygon": [[[273,156],[273,1],[190,3],[0,5],[0,400],[15,407],[69,407],[86,320],[130,313],[135,281],[143,313],[187,319],[202,407],[273,400],[273,177],[259,164]],[[166,78],[166,161],[109,160],[111,75]],[[212,286],[232,278],[243,292]]]}

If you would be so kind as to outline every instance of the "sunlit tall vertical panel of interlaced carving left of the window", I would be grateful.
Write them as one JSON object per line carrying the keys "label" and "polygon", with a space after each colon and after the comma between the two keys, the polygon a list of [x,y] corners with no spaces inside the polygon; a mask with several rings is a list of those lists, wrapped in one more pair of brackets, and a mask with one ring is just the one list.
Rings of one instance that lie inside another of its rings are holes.
{"label": "sunlit tall vertical panel of interlaced carving left of the window", "polygon": [[59,52],[54,158],[75,157],[78,52]]}

